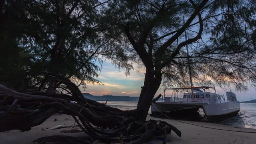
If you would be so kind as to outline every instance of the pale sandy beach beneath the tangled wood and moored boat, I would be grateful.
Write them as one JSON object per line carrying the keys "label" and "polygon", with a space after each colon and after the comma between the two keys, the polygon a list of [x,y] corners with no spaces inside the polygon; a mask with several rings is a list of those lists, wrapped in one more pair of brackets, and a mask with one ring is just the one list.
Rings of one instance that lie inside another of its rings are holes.
{"label": "pale sandy beach beneath the tangled wood and moored boat", "polygon": [[[57,121],[54,121],[54,119]],[[256,129],[250,128],[238,128],[234,126],[226,126],[221,124],[214,124],[208,122],[191,122],[191,121],[181,121],[190,124],[184,124],[174,120],[159,119],[148,116],[147,119],[155,120],[165,120],[170,124],[173,124],[181,131],[181,138],[179,138],[174,132],[167,135],[167,144],[256,144],[256,133],[245,133],[245,132],[232,132],[225,130],[235,130],[235,131],[246,131],[246,132],[256,132]],[[33,140],[44,136],[52,135],[69,135],[82,137],[85,136],[84,132],[77,133],[63,133],[63,130],[76,129],[80,130],[74,125],[74,120],[71,116],[65,114],[54,114],[43,124],[33,127],[28,132],[20,132],[19,130],[11,130],[8,132],[0,132],[0,144],[33,144]],[[195,126],[191,124],[196,124],[200,126]],[[62,128],[56,128],[56,126],[62,125]],[[162,144],[161,136],[153,138],[147,144]]]}

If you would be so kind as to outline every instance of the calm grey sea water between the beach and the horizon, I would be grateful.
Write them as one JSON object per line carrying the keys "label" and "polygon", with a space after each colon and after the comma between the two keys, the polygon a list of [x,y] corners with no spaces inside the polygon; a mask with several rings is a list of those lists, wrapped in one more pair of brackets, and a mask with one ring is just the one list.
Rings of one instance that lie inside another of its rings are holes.
{"label": "calm grey sea water between the beach and the horizon", "polygon": [[[134,110],[137,107],[137,102],[107,102],[107,105],[119,108],[121,110]],[[199,113],[200,118],[196,118],[193,120],[207,122],[207,119],[205,118],[202,109]],[[149,114],[151,114],[150,109]],[[188,118],[187,120],[191,120],[191,118]],[[238,115],[219,123],[237,127],[256,129],[256,104],[240,104],[240,112]]]}

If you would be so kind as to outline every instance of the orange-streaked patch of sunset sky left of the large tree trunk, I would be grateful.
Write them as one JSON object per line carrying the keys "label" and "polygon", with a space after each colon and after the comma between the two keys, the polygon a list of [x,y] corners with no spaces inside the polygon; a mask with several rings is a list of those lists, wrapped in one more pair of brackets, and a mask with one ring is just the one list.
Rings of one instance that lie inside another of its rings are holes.
{"label": "orange-streaked patch of sunset sky left of the large tree trunk", "polygon": [[[139,96],[141,86],[143,86],[145,71],[136,71],[137,68],[130,71],[129,76],[125,76],[125,70],[118,70],[111,62],[105,60],[99,72],[98,80],[104,85],[87,84],[86,92],[102,96],[112,94],[115,96]],[[85,90],[81,90],[85,92]]]}

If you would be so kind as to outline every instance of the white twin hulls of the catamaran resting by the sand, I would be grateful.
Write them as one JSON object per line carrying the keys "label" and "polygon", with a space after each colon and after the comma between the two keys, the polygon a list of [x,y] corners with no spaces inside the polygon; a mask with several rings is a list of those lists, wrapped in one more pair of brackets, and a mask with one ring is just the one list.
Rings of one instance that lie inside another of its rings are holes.
{"label": "white twin hulls of the catamaran resting by the sand", "polygon": [[[173,116],[194,114],[199,108],[204,110],[204,113],[210,122],[221,121],[231,116],[236,115],[240,111],[239,102],[225,103],[180,103],[180,102],[156,102],[151,105],[152,114],[163,112]],[[160,111],[160,112],[159,112]]]}

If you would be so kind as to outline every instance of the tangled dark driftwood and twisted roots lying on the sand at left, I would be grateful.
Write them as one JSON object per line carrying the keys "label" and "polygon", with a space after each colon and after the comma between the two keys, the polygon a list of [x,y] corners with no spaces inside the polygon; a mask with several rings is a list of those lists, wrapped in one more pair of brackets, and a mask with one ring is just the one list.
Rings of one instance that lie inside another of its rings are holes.
{"label": "tangled dark driftwood and twisted roots lying on the sand at left", "polygon": [[[106,104],[86,99],[79,88],[64,76],[45,72],[45,75],[62,86],[60,92],[47,93],[32,91],[20,93],[0,85],[0,132],[8,130],[28,131],[42,124],[57,112],[71,115],[80,128],[93,140],[107,143],[141,144],[154,136],[181,132],[163,121],[138,122],[132,116],[136,110],[122,111]],[[94,126],[106,130],[98,130]],[[64,141],[63,141],[64,140]],[[71,136],[50,136],[38,138],[38,143],[87,144],[87,140]],[[163,142],[165,143],[165,141]]]}

